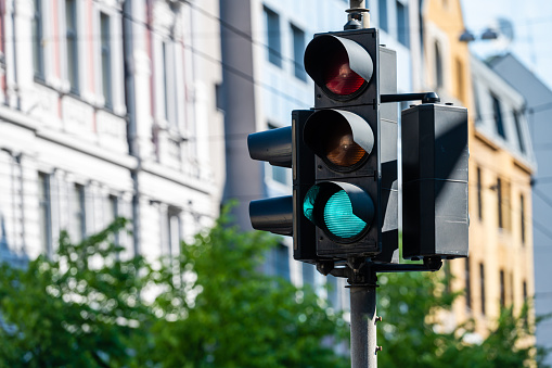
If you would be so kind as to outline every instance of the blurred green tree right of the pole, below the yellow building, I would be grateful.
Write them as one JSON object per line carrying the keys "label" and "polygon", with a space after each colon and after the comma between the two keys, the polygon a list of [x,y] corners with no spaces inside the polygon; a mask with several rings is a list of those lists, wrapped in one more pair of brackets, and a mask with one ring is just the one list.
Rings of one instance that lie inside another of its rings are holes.
{"label": "blurred green tree right of the pole, below the yellow building", "polygon": [[[377,325],[382,367],[529,367],[540,363],[544,351],[524,346],[532,335],[528,307],[514,316],[504,308],[497,327],[480,344],[466,342],[473,321],[441,332],[437,310],[450,310],[459,293],[447,291],[448,280],[440,274],[406,272],[380,276]],[[535,354],[537,352],[537,354]],[[539,366],[540,367],[540,366]]]}

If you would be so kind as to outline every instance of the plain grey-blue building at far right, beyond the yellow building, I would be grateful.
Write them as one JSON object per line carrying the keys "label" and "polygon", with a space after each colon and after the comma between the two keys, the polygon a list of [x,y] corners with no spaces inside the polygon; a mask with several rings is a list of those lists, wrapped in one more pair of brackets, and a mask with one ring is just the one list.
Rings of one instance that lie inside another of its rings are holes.
{"label": "plain grey-blue building at far right, beyond the yellow building", "polygon": [[[538,170],[532,177],[534,257],[535,257],[535,314],[543,316],[552,312],[552,283],[550,259],[552,259],[552,231],[547,219],[552,216],[552,91],[532,74],[517,58],[505,53],[492,58],[490,67],[515,88],[525,99],[525,112],[529,122],[529,134],[534,143]],[[519,149],[522,147],[519,145]],[[532,295],[532,294],[529,294]],[[537,326],[537,344],[552,348],[552,320]],[[552,364],[549,356],[547,364]]]}

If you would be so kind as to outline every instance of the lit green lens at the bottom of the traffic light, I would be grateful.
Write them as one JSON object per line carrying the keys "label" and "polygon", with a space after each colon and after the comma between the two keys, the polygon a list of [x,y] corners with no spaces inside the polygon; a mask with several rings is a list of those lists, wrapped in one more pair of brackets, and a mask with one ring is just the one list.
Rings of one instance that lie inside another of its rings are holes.
{"label": "lit green lens at the bottom of the traffic light", "polygon": [[324,223],[332,234],[342,239],[355,238],[368,225],[352,213],[349,195],[344,190],[337,191],[328,200],[324,206]]}

